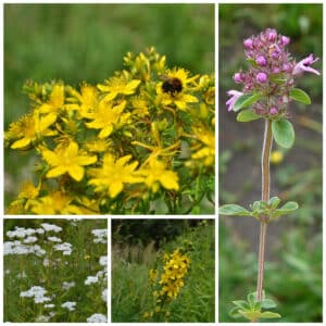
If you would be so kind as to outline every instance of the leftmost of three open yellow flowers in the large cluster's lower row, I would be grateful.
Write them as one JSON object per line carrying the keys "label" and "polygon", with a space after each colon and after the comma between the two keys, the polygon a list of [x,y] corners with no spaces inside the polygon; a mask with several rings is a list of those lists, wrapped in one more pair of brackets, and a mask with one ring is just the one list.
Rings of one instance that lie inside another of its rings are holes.
{"label": "leftmost of three open yellow flowers in the large cluster's lower row", "polygon": [[52,167],[48,173],[48,178],[58,177],[67,173],[76,181],[84,177],[84,165],[92,164],[97,161],[96,155],[80,153],[78,145],[74,141],[67,146],[59,145],[54,151],[40,149],[43,159]]}

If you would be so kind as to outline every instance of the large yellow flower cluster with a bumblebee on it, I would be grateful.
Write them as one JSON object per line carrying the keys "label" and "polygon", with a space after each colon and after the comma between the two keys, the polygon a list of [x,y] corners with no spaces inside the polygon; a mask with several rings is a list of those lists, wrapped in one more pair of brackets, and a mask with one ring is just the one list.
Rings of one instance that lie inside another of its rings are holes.
{"label": "large yellow flower cluster with a bumblebee on it", "polygon": [[195,170],[214,178],[214,78],[168,68],[154,48],[124,63],[97,86],[27,82],[32,111],[5,146],[41,162],[9,214],[149,213],[160,198],[177,210]]}

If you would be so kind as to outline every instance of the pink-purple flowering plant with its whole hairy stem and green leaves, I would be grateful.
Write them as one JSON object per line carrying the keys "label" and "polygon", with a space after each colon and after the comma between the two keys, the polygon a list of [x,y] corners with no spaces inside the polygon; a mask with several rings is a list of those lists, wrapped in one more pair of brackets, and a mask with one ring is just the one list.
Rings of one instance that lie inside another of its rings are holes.
{"label": "pink-purple flowering plant with its whole hairy stem and green leaves", "polygon": [[239,112],[238,122],[262,118],[265,126],[261,162],[261,200],[250,204],[250,210],[238,204],[225,204],[220,208],[222,215],[253,216],[261,225],[256,291],[249,293],[247,301],[233,301],[235,308],[230,311],[233,317],[244,317],[250,322],[280,317],[275,312],[266,311],[276,306],[273,300],[265,298],[263,290],[266,229],[269,222],[292,213],[299,205],[290,201],[279,206],[280,199],[271,198],[269,156],[273,139],[286,149],[294,143],[294,129],[289,121],[289,104],[292,101],[311,103],[309,95],[296,88],[294,78],[304,72],[319,75],[318,71],[311,67],[318,58],[314,59],[313,54],[310,54],[297,63],[286,49],[289,42],[289,37],[272,28],[246,39],[244,54],[250,67],[234,75],[234,82],[242,85],[242,90],[227,91],[230,97],[226,102],[228,111]]}

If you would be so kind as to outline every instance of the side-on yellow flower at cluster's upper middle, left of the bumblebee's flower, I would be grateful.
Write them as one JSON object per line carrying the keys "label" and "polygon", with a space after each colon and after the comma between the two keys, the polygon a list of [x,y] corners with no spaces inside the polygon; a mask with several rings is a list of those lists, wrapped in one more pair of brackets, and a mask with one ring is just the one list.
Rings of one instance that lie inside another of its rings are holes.
{"label": "side-on yellow flower at cluster's upper middle, left of the bumblebee's flower", "polygon": [[124,76],[112,77],[104,82],[105,84],[98,84],[98,89],[106,95],[103,101],[112,101],[118,93],[131,95],[140,84],[139,79],[127,80]]}

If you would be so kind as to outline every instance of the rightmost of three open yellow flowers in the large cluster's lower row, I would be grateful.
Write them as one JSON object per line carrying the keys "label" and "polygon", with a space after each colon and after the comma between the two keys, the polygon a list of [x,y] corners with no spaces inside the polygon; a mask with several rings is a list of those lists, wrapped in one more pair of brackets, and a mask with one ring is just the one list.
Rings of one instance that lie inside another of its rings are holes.
{"label": "rightmost of three open yellow flowers in the large cluster's lower row", "polygon": [[178,175],[171,170],[166,170],[166,164],[152,156],[148,164],[138,170],[135,175],[141,176],[148,188],[153,192],[159,190],[160,184],[167,190],[179,190]]}

